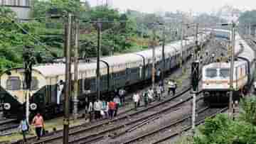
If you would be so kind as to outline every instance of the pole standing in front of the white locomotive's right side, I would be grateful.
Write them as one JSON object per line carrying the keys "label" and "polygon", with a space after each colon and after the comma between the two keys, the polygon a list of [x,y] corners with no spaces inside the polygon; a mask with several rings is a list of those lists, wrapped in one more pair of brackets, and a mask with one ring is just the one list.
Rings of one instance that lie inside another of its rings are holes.
{"label": "pole standing in front of the white locomotive's right side", "polygon": [[233,119],[233,75],[234,75],[234,57],[235,57],[235,23],[232,23],[232,55],[230,62],[230,99],[229,99],[229,114],[230,118]]}

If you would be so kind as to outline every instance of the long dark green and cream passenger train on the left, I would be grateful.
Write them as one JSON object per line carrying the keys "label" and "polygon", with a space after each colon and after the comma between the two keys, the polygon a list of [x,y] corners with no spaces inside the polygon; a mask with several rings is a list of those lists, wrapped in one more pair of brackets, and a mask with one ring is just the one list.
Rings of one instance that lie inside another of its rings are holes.
{"label": "long dark green and cream passenger train on the left", "polygon": [[[203,45],[210,33],[201,33],[198,42]],[[183,60],[186,60],[193,50],[194,38],[188,37],[183,48]],[[164,71],[177,67],[181,60],[181,42],[176,41],[166,45]],[[162,65],[161,47],[156,48],[156,70]],[[96,94],[96,62],[79,62],[79,104],[85,98]],[[120,87],[129,87],[151,78],[152,50],[132,52],[123,55],[103,57],[100,59],[100,91],[101,94],[112,92]],[[74,78],[74,67],[71,66]],[[33,67],[30,90],[30,111],[41,111],[46,118],[63,111],[64,93],[60,96],[60,106],[57,102],[58,84],[65,82],[65,64],[55,63]],[[26,106],[26,91],[23,89],[24,69],[12,68],[0,74],[0,100],[4,104],[4,116],[19,117]],[[72,98],[70,97],[70,101]],[[72,104],[72,103],[71,103]],[[72,107],[72,106],[70,106]]]}

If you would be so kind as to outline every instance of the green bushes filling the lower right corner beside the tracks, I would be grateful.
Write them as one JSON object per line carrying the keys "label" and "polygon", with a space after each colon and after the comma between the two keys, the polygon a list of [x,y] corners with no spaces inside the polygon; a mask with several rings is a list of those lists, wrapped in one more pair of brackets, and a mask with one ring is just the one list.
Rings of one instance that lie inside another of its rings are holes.
{"label": "green bushes filling the lower right corner beside the tracks", "polygon": [[255,144],[256,143],[256,98],[247,97],[241,101],[242,113],[237,121],[225,114],[207,118],[199,133],[193,139],[195,144]]}

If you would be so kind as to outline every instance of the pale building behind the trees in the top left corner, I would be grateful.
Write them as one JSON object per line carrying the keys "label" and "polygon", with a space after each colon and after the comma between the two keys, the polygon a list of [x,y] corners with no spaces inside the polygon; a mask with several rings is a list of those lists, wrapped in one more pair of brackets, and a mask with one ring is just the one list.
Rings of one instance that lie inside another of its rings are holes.
{"label": "pale building behind the trees in the top left corner", "polygon": [[31,0],[0,0],[0,6],[10,8],[21,20],[30,16]]}

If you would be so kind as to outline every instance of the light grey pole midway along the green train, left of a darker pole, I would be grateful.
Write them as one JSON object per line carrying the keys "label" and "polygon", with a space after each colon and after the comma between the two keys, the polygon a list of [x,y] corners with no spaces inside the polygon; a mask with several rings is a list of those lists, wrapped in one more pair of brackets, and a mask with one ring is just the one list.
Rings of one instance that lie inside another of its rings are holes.
{"label": "light grey pole midway along the green train, left of a darker pole", "polygon": [[[154,24],[153,24],[154,25]],[[156,28],[153,26],[153,43],[152,43],[152,52],[153,52],[153,57],[152,57],[152,89],[154,89],[154,82],[155,82],[155,73],[156,73],[156,67],[155,67],[155,55],[156,55],[156,48],[155,48],[155,43],[156,43]]]}

